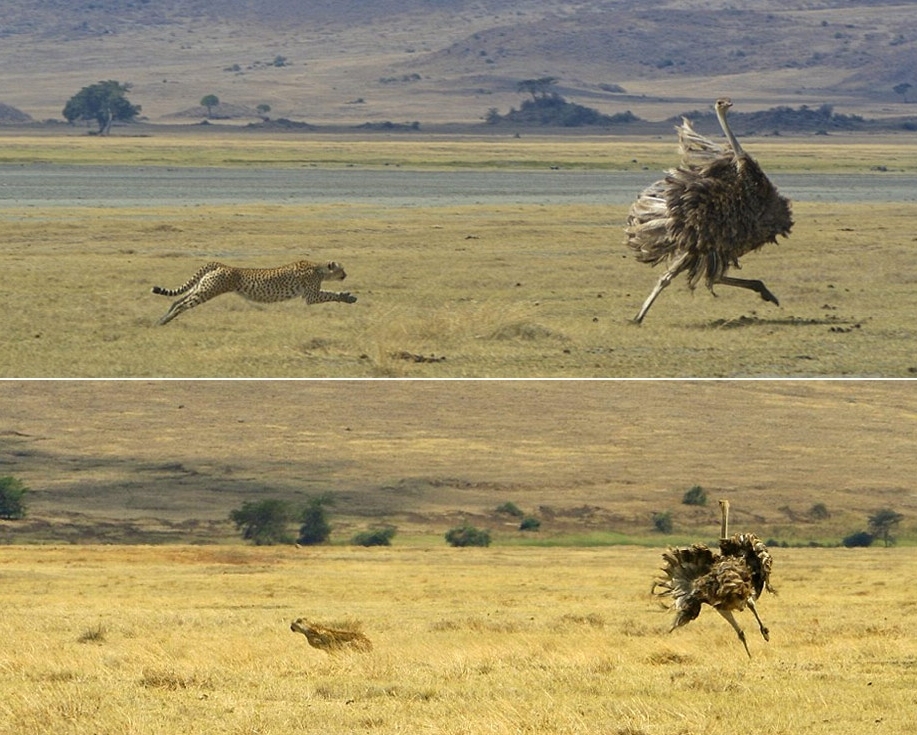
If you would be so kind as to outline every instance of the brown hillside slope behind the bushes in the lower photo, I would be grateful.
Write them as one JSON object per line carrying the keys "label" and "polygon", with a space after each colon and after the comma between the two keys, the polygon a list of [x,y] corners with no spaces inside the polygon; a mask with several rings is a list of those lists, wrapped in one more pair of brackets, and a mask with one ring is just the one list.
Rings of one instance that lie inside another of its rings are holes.
{"label": "brown hillside slope behind the bushes in the lower photo", "polygon": [[463,520],[500,544],[715,539],[694,485],[792,543],[882,507],[909,543],[917,518],[914,382],[6,381],[0,408],[0,474],[32,489],[6,543],[226,541],[246,500],[324,492],[338,542],[389,522],[439,545]]}

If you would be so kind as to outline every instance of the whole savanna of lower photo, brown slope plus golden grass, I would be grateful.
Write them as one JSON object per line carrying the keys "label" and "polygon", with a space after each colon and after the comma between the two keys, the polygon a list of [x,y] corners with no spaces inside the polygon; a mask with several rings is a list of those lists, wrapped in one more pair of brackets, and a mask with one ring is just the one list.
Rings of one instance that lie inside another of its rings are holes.
{"label": "whole savanna of lower photo, brown slope plus golden grass", "polygon": [[[910,732],[912,385],[4,381],[2,474],[31,492],[0,522],[0,732]],[[650,594],[666,545],[715,543],[695,483],[791,542],[770,641],[738,615],[750,659],[709,608],[669,633]],[[330,545],[228,520],[328,491]],[[899,545],[839,546],[883,506]],[[462,520],[491,546],[447,546]],[[378,523],[391,547],[349,543]],[[372,651],[313,648],[301,617]]]}

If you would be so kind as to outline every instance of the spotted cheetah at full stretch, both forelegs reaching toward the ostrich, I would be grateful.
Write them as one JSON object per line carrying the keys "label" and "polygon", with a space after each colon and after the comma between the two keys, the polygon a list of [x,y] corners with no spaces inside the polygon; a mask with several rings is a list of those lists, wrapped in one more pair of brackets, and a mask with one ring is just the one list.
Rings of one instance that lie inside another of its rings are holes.
{"label": "spotted cheetah at full stretch, both forelegs reaching toward the ostrich", "polygon": [[183,311],[205,301],[232,291],[250,301],[271,303],[302,296],[307,304],[325,301],[343,301],[352,304],[357,300],[350,292],[322,291],[322,281],[343,281],[344,269],[334,261],[319,265],[300,260],[280,268],[234,268],[222,263],[207,263],[179,288],[153,286],[153,293],[178,296],[159,324],[168,324]]}

